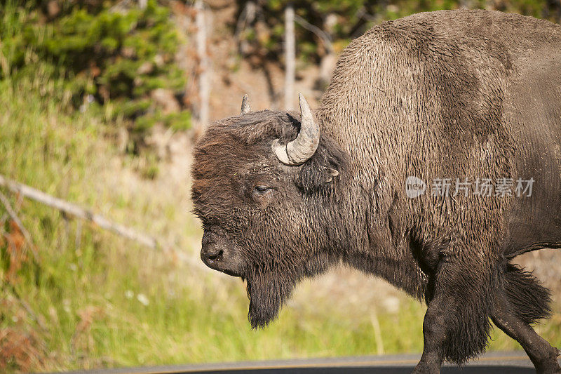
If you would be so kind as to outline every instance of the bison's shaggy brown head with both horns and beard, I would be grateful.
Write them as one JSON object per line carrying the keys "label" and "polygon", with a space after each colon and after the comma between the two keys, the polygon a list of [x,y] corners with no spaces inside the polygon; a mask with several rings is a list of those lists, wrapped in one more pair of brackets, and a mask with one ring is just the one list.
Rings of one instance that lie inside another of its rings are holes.
{"label": "bison's shaggy brown head with both horns and beard", "polygon": [[266,326],[302,276],[339,258],[346,154],[300,95],[300,114],[250,112],[212,124],[194,152],[201,259],[247,281],[249,319]]}

